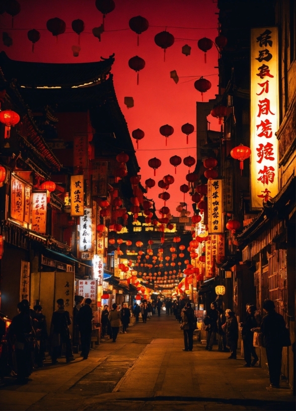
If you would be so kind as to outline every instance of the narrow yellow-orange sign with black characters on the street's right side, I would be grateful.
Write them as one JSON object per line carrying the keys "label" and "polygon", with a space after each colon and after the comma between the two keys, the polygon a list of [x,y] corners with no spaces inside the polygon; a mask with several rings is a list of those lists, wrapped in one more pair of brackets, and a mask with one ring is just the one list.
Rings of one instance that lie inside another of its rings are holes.
{"label": "narrow yellow-orange sign with black characters on the street's right side", "polygon": [[208,224],[209,234],[223,232],[222,180],[208,181]]}

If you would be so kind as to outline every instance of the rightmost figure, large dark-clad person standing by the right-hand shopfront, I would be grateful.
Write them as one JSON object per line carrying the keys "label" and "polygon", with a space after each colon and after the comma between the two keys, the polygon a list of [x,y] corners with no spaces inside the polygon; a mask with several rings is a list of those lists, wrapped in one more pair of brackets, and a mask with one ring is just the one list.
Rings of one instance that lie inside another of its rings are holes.
{"label": "rightmost figure, large dark-clad person standing by the right-hand shopfront", "polygon": [[263,333],[263,344],[266,348],[270,386],[280,388],[283,351],[282,338],[286,323],[283,315],[276,312],[273,301],[265,300],[263,310],[266,315],[262,319],[261,332]]}

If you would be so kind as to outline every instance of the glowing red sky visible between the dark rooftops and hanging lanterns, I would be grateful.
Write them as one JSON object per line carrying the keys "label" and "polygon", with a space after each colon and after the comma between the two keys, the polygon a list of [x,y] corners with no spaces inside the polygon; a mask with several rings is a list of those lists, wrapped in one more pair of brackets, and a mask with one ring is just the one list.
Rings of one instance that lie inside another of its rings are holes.
{"label": "glowing red sky visible between the dark rooftops and hanging lanterns", "polygon": [[[136,128],[145,131],[145,137],[139,142],[137,158],[141,167],[142,184],[149,177],[153,178],[153,170],[148,167],[148,159],[157,157],[162,165],[156,171],[156,186],[149,190],[148,198],[156,201],[156,208],[163,205],[158,199],[161,189],[157,182],[166,174],[175,177],[175,183],[168,192],[171,195],[167,206],[171,213],[177,215],[176,206],[183,201],[179,187],[186,183],[185,175],[188,168],[183,164],[174,168],[169,158],[175,154],[182,157],[188,155],[196,158],[196,132],[186,136],[181,132],[184,123],[194,124],[196,129],[196,102],[201,101],[201,94],[195,90],[194,81],[200,76],[206,77],[212,83],[212,88],[204,95],[204,101],[215,98],[218,92],[218,52],[215,46],[207,53],[207,64],[204,63],[204,53],[198,49],[197,40],[209,37],[215,40],[217,34],[217,3],[212,0],[115,0],[114,11],[106,16],[105,30],[101,42],[92,34],[92,28],[102,22],[102,14],[96,9],[94,0],[18,0],[21,11],[14,17],[14,29],[11,30],[11,17],[4,13],[0,15],[0,27],[7,31],[13,39],[11,47],[1,44],[1,49],[15,60],[69,63],[98,61],[100,56],[108,57],[115,53],[115,63],[112,68],[115,90],[120,107],[125,115],[130,133]],[[142,15],[149,21],[149,28],[140,35],[140,46],[137,46],[137,34],[129,29],[129,19]],[[46,21],[59,17],[66,21],[66,33],[59,36],[58,42],[46,29]],[[85,30],[80,35],[81,51],[74,58],[71,47],[77,44],[77,34],[73,32],[71,23],[80,18],[85,23]],[[154,27],[157,26],[157,27]],[[179,28],[177,28],[179,27]],[[180,28],[183,27],[183,28]],[[185,27],[185,28],[184,28]],[[189,27],[189,28],[186,28]],[[38,29],[41,38],[35,44],[32,53],[32,43],[27,38],[29,29]],[[167,28],[175,37],[175,43],[166,51],[166,61],[163,62],[163,50],[154,43],[154,36]],[[115,31],[108,31],[115,30]],[[181,53],[182,46],[191,46],[191,55]],[[137,75],[128,66],[128,60],[139,55],[146,61],[146,67],[140,72],[140,84],[137,86]],[[170,79],[170,71],[176,70],[179,83]],[[215,75],[216,74],[216,75]],[[188,77],[194,76],[194,77]],[[135,106],[128,109],[124,97],[134,98]],[[213,117],[212,128],[215,129]],[[174,134],[168,138],[159,133],[159,127],[170,124]],[[136,141],[135,147],[136,147]],[[186,201],[190,203],[189,195]],[[191,207],[190,207],[191,209]],[[192,211],[192,209],[191,209]]]}

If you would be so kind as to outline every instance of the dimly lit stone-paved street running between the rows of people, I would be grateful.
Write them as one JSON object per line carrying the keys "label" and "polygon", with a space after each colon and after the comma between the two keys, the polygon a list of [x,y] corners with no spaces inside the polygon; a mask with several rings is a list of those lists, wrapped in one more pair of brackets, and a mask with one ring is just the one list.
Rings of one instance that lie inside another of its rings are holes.
{"label": "dimly lit stone-paved street running between the rows of people", "polygon": [[18,386],[5,379],[0,410],[295,410],[292,392],[266,389],[268,373],[238,356],[184,352],[174,317],[156,315],[90,351],[88,360],[45,366]]}

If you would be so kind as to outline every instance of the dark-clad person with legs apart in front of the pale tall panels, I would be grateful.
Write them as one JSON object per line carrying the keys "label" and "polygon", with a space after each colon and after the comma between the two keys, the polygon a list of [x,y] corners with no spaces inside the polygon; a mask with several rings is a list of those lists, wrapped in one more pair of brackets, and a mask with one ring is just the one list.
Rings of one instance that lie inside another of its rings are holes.
{"label": "dark-clad person with legs apart in front of the pale tall panels", "polygon": [[66,362],[69,363],[74,361],[69,330],[71,324],[70,314],[69,311],[65,310],[65,303],[62,298],[57,300],[57,305],[58,309],[54,311],[51,319],[52,364],[58,363],[58,357],[62,355],[63,344],[66,345]]}

